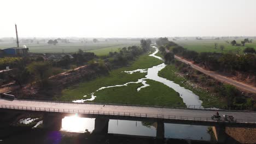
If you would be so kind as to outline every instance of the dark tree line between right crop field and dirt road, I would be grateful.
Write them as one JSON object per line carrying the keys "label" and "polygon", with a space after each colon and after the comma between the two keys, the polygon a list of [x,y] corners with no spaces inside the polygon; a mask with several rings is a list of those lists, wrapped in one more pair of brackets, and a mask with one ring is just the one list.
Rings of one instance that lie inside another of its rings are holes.
{"label": "dark tree line between right crop field and dirt road", "polygon": [[158,43],[161,44],[159,49],[162,53],[165,53],[165,50],[170,50],[174,55],[182,56],[194,61],[196,64],[202,64],[206,69],[225,73],[240,71],[253,75],[256,74],[256,55],[253,47],[247,47],[244,50],[245,55],[216,52],[198,53],[196,51],[187,50],[172,41],[167,41],[165,38],[160,38],[159,41],[161,41]]}

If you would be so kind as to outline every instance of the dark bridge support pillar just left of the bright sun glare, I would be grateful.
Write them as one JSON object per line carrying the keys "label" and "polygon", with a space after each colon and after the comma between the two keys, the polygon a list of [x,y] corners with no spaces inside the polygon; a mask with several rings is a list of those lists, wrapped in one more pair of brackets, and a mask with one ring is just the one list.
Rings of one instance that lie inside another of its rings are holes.
{"label": "dark bridge support pillar just left of the bright sun glare", "polygon": [[43,116],[43,127],[45,129],[60,130],[62,127],[62,118],[60,114],[45,113]]}

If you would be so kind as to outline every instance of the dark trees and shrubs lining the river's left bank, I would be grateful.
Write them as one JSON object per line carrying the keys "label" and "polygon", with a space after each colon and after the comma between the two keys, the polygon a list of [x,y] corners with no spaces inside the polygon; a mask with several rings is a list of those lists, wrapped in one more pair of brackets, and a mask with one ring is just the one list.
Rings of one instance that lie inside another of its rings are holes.
{"label": "dark trees and shrubs lining the river's left bank", "polygon": [[[101,57],[96,56],[93,52],[83,52],[82,50],[63,56],[59,61],[48,60],[37,55],[24,56],[20,57],[19,61],[11,63],[13,73],[9,77],[20,87],[33,82],[37,82],[40,87],[45,87],[49,84],[50,76],[81,65],[91,65],[91,68],[102,69],[102,73],[106,74],[110,69],[123,67],[142,53],[147,52],[150,44],[151,40],[142,39],[141,46],[123,47],[119,52],[109,52],[109,55]],[[2,67],[5,66],[7,65],[2,64]]]}

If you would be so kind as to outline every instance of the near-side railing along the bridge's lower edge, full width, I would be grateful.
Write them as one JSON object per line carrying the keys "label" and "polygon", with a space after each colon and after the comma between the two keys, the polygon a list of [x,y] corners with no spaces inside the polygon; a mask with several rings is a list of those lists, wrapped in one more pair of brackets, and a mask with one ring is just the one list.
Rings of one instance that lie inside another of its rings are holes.
{"label": "near-side railing along the bridge's lower edge, full width", "polygon": [[[162,119],[179,119],[185,121],[199,121],[199,122],[224,122],[215,121],[210,117],[187,117],[187,116],[173,116],[173,115],[152,115],[147,113],[133,113],[133,112],[115,112],[115,111],[91,111],[91,110],[74,110],[74,109],[51,109],[46,107],[27,107],[27,106],[11,106],[1,105],[2,109],[14,109],[14,110],[25,110],[25,111],[42,111],[42,112],[59,112],[59,113],[79,113],[89,115],[106,115],[106,116],[129,116],[129,117],[141,117],[141,118],[162,118]],[[248,123],[256,124],[256,121],[252,119],[235,119],[228,123]]]}

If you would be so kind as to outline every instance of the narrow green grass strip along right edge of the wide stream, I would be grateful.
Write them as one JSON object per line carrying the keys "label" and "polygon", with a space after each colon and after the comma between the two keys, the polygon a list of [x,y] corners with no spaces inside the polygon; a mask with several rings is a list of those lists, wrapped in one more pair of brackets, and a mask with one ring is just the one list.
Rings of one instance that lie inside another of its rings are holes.
{"label": "narrow green grass strip along right edge of the wide stream", "polygon": [[208,92],[207,89],[195,85],[188,81],[183,75],[179,74],[178,68],[174,64],[167,65],[164,69],[159,71],[159,76],[164,77],[168,80],[174,81],[186,89],[189,89],[193,93],[199,96],[202,100],[202,106],[205,107],[223,107],[226,104],[224,101],[217,95]]}

